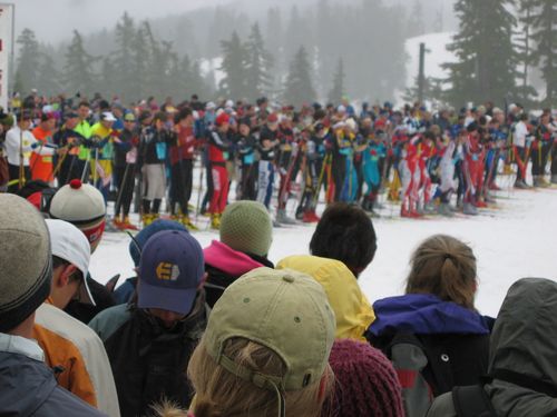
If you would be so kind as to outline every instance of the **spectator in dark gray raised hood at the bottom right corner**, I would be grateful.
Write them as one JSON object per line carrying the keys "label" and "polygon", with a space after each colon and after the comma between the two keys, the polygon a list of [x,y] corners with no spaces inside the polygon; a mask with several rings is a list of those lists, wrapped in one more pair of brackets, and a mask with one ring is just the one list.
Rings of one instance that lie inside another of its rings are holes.
{"label": "spectator in dark gray raised hood at the bottom right corner", "polygon": [[[522,278],[509,288],[491,332],[483,386],[497,416],[557,415],[556,317],[557,282]],[[458,416],[452,393],[436,398],[427,414],[441,416]]]}

